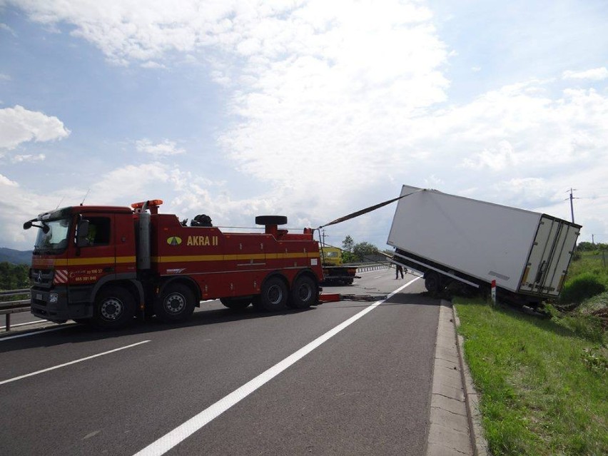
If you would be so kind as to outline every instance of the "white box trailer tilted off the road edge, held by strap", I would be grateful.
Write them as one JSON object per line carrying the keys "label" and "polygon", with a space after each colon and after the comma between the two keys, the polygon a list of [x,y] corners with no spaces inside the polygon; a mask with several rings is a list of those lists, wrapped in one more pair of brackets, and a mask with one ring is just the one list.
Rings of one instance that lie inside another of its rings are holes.
{"label": "white box trailer tilted off the road edge, held by strap", "polygon": [[[407,195],[407,196],[405,196]],[[496,281],[499,298],[557,298],[581,226],[542,213],[403,186],[387,244],[430,292]]]}

